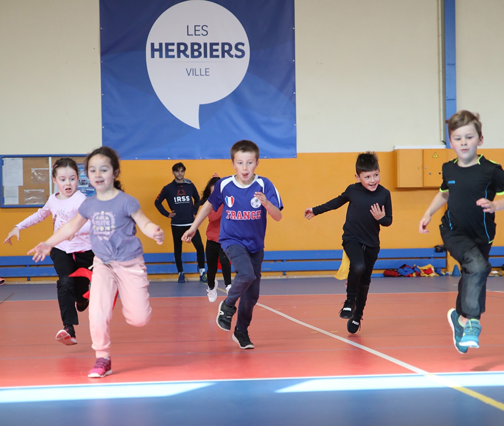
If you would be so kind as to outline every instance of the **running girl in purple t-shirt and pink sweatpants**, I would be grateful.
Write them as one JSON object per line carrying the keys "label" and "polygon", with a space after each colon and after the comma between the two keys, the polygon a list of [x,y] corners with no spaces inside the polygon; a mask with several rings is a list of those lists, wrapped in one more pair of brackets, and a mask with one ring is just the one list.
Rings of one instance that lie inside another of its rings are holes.
{"label": "running girl in purple t-shirt and pink sweatpants", "polygon": [[97,360],[88,377],[104,377],[112,373],[109,323],[117,292],[128,324],[141,327],[151,318],[149,280],[142,243],[135,235],[136,226],[158,244],[163,243],[164,232],[145,216],[137,199],[122,192],[117,180],[119,159],[114,150],[108,147],[94,150],[86,158],[85,169],[96,194],[81,204],[74,219],[28,254],[34,253],[35,261],[43,260],[51,247],[76,233],[88,219],[91,222],[95,258],[89,331]]}

